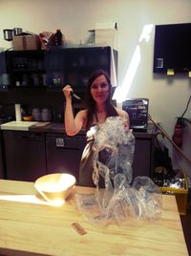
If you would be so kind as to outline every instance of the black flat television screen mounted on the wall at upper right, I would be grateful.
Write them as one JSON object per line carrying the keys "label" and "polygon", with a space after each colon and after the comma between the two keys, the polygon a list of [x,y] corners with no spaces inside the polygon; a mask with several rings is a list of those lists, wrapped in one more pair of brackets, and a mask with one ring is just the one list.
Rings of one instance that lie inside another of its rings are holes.
{"label": "black flat television screen mounted on the wall at upper right", "polygon": [[154,43],[154,73],[191,71],[191,23],[157,25]]}

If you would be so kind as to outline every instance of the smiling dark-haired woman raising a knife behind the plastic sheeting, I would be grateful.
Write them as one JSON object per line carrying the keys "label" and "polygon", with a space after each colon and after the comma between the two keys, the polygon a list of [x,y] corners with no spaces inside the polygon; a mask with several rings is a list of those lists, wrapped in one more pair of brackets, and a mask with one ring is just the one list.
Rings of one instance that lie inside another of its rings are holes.
{"label": "smiling dark-haired woman raising a knife behind the plastic sheeting", "polygon": [[[93,181],[93,159],[94,159],[94,135],[91,133],[91,127],[104,123],[107,117],[121,117],[124,127],[128,130],[129,117],[127,112],[118,109],[111,101],[112,84],[110,77],[102,70],[93,73],[87,84],[85,109],[79,111],[76,116],[73,115],[70,85],[63,88],[66,97],[65,108],[65,130],[69,136],[76,135],[81,128],[87,131],[87,145],[82,154],[79,167],[79,184],[84,186],[95,186]],[[100,183],[104,186],[104,183]]]}

